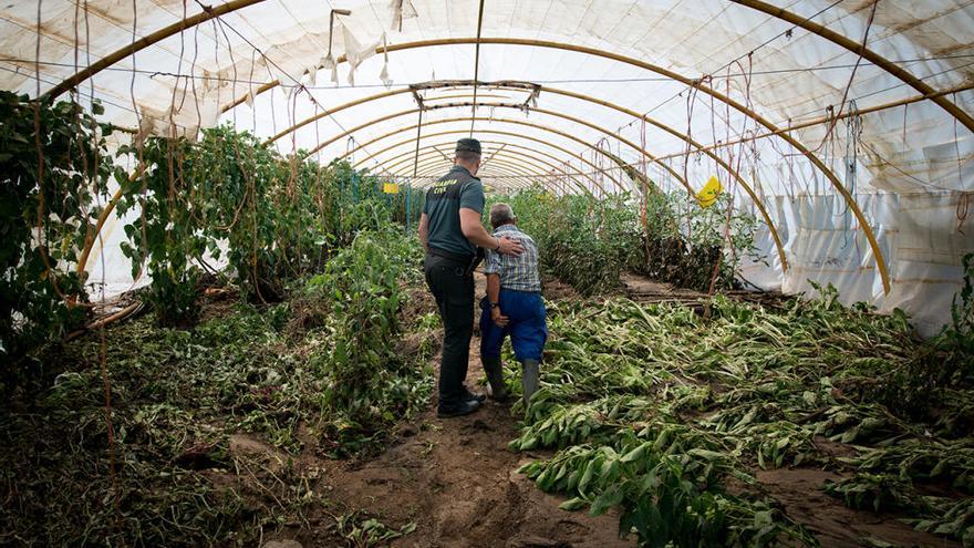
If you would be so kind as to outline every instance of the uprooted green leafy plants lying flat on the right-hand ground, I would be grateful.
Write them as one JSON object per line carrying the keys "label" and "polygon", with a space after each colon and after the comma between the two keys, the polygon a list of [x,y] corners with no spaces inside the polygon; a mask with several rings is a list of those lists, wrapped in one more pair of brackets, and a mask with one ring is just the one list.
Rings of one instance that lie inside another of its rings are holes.
{"label": "uprooted green leafy plants lying flat on the right-hand ground", "polygon": [[[819,290],[784,311],[718,296],[709,318],[625,299],[552,304],[542,390],[511,447],[558,451],[522,472],[567,509],[620,505],[621,533],[644,546],[816,546],[753,472],[828,467],[845,477],[822,487],[849,506],[974,546],[970,324],[921,341],[902,313]],[[970,318],[968,293],[955,318]]]}

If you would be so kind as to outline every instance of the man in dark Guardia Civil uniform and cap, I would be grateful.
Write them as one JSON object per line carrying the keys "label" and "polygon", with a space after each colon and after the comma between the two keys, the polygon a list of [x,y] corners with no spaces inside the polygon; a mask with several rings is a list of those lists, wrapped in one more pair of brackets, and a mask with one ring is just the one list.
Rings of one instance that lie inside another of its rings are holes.
{"label": "man in dark Guardia Civil uniform and cap", "polygon": [[[496,238],[484,228],[484,185],[476,177],[480,167],[480,142],[457,142],[453,169],[426,190],[419,217],[419,240],[426,248],[426,285],[443,319],[443,360],[439,365],[441,417],[477,411],[485,396],[464,385],[474,334],[474,268],[483,249],[519,255],[521,245]],[[481,249],[478,249],[481,248]]]}

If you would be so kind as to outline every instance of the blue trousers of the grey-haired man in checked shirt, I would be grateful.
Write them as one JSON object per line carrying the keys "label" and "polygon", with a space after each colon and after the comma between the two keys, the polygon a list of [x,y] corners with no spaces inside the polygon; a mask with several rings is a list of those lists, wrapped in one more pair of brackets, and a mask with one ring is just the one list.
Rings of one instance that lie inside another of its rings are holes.
{"label": "blue trousers of the grey-haired man in checked shirt", "polygon": [[510,335],[510,344],[519,362],[540,362],[545,341],[548,340],[548,323],[545,320],[547,312],[541,293],[501,289],[499,302],[500,313],[508,318],[504,328],[490,319],[490,303],[487,298],[480,300],[480,355],[500,358],[500,345]]}

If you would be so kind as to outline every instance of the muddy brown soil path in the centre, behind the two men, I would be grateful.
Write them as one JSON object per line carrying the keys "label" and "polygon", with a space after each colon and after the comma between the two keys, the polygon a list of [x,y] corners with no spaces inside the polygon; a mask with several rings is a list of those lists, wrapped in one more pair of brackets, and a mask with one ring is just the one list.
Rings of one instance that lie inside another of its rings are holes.
{"label": "muddy brown soil path in the centre, behind the two men", "polygon": [[[477,296],[483,296],[484,278],[476,279]],[[479,342],[475,332],[467,373],[467,386],[475,392],[483,391]],[[438,365],[439,355],[434,363]],[[367,461],[329,461],[309,447],[296,466],[321,471],[315,492],[334,507],[312,510],[311,527],[287,527],[265,540],[297,541],[305,548],[345,546],[335,533],[334,517],[363,510],[392,528],[415,524],[413,533],[388,544],[396,547],[635,546],[634,536],[619,539],[618,513],[595,518],[564,511],[558,508],[563,497],[546,495],[517,473],[545,454],[507,448],[517,437],[517,417],[509,405],[488,400],[469,416],[441,420],[434,395],[429,407],[396,434],[385,452]]]}

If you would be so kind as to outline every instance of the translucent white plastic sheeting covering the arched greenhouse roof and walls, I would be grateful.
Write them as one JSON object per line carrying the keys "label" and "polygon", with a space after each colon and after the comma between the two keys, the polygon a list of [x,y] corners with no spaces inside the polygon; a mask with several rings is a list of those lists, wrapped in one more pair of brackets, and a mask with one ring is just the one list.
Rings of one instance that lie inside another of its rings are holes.
{"label": "translucent white plastic sheeting covering the arched greenhouse roof and walls", "polygon": [[[485,157],[496,153],[483,176],[498,189],[634,189],[612,157],[667,189],[683,188],[676,175],[694,189],[716,175],[757,213],[746,183],[781,239],[789,268],[764,234],[768,266],[749,265],[750,281],[789,293],[831,282],[847,302],[904,309],[926,334],[950,319],[961,258],[974,251],[972,2],[483,8],[475,69],[478,0],[8,1],[0,86],[46,93],[115,54],[76,93],[99,99],[118,126],[194,137],[231,123],[284,154],[318,148],[322,163],[345,156],[388,176],[415,172],[414,185],[446,168],[439,151],[472,124]],[[408,86],[424,82],[433,85],[416,92],[427,107],[416,162]],[[804,149],[768,135],[776,130]],[[101,280],[104,265],[110,287],[124,289],[132,280],[116,225],[89,268]]]}

